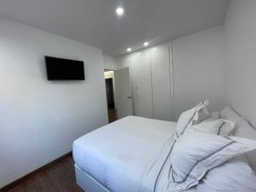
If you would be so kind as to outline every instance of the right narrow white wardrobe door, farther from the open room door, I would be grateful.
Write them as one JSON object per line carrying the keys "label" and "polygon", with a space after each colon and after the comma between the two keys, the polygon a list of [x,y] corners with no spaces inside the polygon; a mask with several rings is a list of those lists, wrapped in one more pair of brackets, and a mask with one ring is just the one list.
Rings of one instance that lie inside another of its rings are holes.
{"label": "right narrow white wardrobe door, farther from the open room door", "polygon": [[168,45],[150,49],[154,119],[172,120],[171,109],[171,55]]}

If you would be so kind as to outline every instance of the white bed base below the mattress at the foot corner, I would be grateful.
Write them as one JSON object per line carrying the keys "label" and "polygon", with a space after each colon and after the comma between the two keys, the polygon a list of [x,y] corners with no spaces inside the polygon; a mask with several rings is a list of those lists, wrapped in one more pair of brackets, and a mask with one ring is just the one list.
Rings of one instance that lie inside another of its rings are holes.
{"label": "white bed base below the mattress at the foot corner", "polygon": [[74,165],[74,167],[77,183],[85,192],[110,192],[101,183],[97,182],[95,178],[81,170],[79,166]]}

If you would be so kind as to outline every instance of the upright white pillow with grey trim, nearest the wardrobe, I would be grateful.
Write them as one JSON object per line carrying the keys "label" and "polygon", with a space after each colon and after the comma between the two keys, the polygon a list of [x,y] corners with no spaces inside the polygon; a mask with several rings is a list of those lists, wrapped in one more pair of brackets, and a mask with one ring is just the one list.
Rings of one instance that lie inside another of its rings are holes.
{"label": "upright white pillow with grey trim, nearest the wardrobe", "polygon": [[205,100],[195,106],[195,108],[191,108],[188,111],[183,112],[177,120],[176,136],[182,136],[183,132],[186,131],[190,125],[199,124],[203,119],[207,119],[209,116],[207,110],[208,105],[209,102]]}

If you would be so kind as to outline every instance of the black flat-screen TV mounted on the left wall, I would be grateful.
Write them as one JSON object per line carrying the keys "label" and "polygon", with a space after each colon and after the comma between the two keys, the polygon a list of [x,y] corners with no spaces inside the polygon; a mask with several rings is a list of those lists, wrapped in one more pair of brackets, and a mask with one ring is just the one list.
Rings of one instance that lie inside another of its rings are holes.
{"label": "black flat-screen TV mounted on the left wall", "polygon": [[44,57],[48,80],[84,80],[84,61]]}

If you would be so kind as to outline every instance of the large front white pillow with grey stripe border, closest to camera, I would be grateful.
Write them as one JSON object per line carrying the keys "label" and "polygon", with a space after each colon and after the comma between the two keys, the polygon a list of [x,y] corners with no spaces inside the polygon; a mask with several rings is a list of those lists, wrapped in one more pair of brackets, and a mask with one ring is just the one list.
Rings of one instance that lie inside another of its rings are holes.
{"label": "large front white pillow with grey stripe border, closest to camera", "polygon": [[172,148],[171,191],[197,185],[212,168],[253,149],[256,142],[245,138],[219,137],[198,131],[183,134]]}

